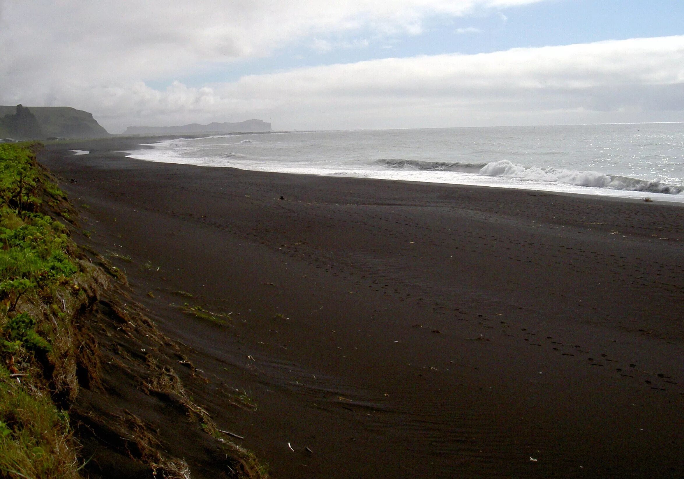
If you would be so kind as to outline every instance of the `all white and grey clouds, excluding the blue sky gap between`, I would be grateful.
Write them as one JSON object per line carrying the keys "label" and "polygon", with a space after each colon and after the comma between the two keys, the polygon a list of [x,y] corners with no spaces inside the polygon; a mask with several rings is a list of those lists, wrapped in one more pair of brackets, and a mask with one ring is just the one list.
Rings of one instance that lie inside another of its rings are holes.
{"label": "all white and grey clouds, excluding the blue sky gap between", "polygon": [[284,42],[321,38],[321,50],[363,48],[365,40],[339,40],[349,38],[342,33],[416,33],[431,16],[535,1],[0,0],[0,102],[71,105],[111,131],[246,118],[276,128],[684,120],[684,36],[148,86],[211,62],[267,55]]}

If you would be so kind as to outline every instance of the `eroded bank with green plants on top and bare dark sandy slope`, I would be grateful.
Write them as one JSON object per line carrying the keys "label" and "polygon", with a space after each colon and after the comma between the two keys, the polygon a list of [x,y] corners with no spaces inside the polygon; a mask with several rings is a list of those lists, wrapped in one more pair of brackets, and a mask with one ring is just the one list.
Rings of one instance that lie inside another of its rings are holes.
{"label": "eroded bank with green plants on top and bare dark sandy slope", "polygon": [[73,241],[79,215],[40,148],[0,145],[0,476],[189,478],[192,456],[203,476],[266,477],[185,389],[203,378],[183,344]]}

